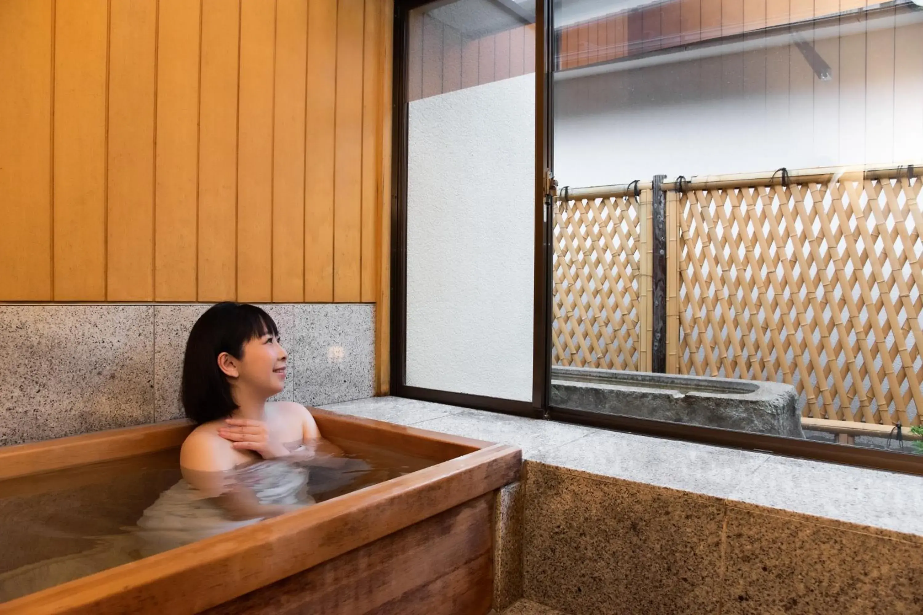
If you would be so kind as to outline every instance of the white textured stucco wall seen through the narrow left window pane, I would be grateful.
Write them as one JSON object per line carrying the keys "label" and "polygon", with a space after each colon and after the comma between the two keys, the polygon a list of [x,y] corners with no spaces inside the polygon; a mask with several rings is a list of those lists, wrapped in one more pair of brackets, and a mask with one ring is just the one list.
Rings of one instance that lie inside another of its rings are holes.
{"label": "white textured stucco wall seen through the narrow left window pane", "polygon": [[408,385],[532,400],[534,78],[410,103]]}

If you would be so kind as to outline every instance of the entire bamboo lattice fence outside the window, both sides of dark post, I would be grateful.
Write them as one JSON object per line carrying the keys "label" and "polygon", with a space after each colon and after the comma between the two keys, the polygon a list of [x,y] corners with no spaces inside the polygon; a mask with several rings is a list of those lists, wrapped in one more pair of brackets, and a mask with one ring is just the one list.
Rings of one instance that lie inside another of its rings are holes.
{"label": "entire bamboo lattice fence outside the window, both sides of dark post", "polygon": [[[650,186],[560,195],[555,363],[650,365]],[[667,181],[667,373],[794,384],[812,425],[920,424],[921,186],[913,167]]]}

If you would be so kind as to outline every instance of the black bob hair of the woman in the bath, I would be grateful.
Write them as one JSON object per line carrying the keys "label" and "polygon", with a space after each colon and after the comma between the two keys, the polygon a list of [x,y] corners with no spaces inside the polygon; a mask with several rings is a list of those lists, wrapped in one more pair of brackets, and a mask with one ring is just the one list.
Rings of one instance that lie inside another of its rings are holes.
{"label": "black bob hair of the woman in the bath", "polygon": [[256,305],[216,303],[199,316],[189,332],[183,360],[181,396],[186,417],[201,425],[231,416],[237,404],[227,376],[218,367],[218,355],[227,352],[241,359],[244,344],[265,335],[279,337],[279,329],[270,314]]}

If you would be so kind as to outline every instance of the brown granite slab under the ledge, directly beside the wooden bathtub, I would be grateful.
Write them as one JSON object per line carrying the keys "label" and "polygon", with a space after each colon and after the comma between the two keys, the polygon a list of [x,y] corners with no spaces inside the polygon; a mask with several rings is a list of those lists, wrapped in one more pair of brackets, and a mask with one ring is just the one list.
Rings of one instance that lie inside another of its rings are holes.
{"label": "brown granite slab under the ledge, directly beside the wooden bathtub", "polygon": [[527,464],[524,597],[571,613],[717,613],[714,498]]}

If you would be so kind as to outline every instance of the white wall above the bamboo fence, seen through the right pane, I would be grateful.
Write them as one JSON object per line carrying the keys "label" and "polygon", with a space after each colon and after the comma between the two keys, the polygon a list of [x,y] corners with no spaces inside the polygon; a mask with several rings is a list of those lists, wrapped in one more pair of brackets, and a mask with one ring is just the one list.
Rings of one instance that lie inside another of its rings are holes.
{"label": "white wall above the bamboo fence, seen through the right pane", "polygon": [[555,84],[561,185],[923,160],[923,24]]}

